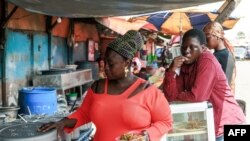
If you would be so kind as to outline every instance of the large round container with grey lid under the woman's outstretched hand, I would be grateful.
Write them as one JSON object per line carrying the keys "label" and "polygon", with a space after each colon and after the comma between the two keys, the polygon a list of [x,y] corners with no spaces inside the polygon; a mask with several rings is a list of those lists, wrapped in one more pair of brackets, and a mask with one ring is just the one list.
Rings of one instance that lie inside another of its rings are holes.
{"label": "large round container with grey lid under the woman's outstretched hand", "polygon": [[1,141],[53,141],[56,140],[56,130],[38,132],[43,123],[23,123],[11,125],[0,130]]}

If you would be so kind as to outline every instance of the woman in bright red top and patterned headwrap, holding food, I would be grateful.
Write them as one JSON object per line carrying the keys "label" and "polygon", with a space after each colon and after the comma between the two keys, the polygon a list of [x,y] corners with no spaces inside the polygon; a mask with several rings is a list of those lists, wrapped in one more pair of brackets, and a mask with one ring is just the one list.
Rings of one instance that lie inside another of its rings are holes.
{"label": "woman in bright red top and patterned headwrap, holding food", "polygon": [[76,112],[55,124],[40,127],[71,132],[92,121],[94,141],[114,141],[130,131],[147,134],[159,141],[172,129],[172,114],[163,93],[130,73],[134,54],[142,46],[139,32],[129,31],[109,44],[105,54],[107,79],[96,81]]}

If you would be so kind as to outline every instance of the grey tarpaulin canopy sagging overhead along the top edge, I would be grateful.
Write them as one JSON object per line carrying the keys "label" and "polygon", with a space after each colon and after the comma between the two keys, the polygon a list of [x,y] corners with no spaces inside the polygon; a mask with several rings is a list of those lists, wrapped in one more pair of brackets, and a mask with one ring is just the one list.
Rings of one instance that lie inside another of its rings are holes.
{"label": "grey tarpaulin canopy sagging overhead along the top edge", "polygon": [[135,15],[218,1],[222,0],[8,0],[31,12],[60,17]]}

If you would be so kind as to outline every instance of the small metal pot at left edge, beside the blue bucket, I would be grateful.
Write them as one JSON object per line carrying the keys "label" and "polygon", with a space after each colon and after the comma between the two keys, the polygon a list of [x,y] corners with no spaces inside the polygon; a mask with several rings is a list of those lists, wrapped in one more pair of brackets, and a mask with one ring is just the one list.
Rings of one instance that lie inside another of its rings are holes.
{"label": "small metal pot at left edge, beside the blue bucket", "polygon": [[1,121],[13,121],[17,117],[17,111],[19,107],[0,107]]}

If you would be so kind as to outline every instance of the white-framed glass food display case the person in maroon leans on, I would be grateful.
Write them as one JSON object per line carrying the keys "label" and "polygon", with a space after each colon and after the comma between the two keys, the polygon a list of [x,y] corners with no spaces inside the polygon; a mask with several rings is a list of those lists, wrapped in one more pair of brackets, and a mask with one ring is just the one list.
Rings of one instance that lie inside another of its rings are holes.
{"label": "white-framed glass food display case the person in maroon leans on", "polygon": [[171,102],[173,130],[161,141],[215,141],[213,107],[209,102]]}

